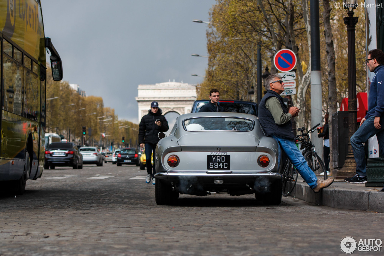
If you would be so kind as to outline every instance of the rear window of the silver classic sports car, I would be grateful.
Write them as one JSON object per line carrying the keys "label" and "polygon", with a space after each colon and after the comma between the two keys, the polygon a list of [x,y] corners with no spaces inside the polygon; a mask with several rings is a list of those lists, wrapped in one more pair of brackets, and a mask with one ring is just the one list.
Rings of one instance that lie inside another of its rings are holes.
{"label": "rear window of the silver classic sports car", "polygon": [[233,117],[202,117],[183,121],[187,131],[251,131],[254,121]]}

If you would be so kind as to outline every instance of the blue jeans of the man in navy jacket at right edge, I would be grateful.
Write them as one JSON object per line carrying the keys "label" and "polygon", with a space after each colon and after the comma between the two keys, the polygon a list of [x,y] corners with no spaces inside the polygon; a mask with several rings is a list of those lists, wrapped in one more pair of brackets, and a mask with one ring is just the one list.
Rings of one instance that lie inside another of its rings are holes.
{"label": "blue jeans of the man in navy jacket at right edge", "polygon": [[360,176],[366,176],[367,174],[364,145],[362,145],[362,143],[365,143],[376,134],[380,153],[384,156],[384,116],[380,118],[380,129],[375,128],[373,124],[374,120],[374,116],[369,117],[351,137],[353,156],[356,161],[356,173]]}

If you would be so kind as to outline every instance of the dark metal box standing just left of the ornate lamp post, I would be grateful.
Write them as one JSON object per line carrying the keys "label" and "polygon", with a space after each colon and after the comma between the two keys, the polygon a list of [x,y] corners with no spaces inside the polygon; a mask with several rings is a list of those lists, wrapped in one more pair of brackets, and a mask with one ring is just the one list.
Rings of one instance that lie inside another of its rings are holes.
{"label": "dark metal box standing just left of the ornate lamp post", "polygon": [[333,168],[343,167],[348,143],[348,111],[338,111],[332,115]]}

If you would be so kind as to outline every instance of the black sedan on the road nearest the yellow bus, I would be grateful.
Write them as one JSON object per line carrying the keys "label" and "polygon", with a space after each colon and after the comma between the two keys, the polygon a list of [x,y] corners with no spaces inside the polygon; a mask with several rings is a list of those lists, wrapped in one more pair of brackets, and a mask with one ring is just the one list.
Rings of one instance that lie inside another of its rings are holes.
{"label": "black sedan on the road nearest the yellow bus", "polygon": [[45,151],[44,169],[55,169],[55,166],[72,166],[83,169],[83,155],[72,142],[51,143]]}

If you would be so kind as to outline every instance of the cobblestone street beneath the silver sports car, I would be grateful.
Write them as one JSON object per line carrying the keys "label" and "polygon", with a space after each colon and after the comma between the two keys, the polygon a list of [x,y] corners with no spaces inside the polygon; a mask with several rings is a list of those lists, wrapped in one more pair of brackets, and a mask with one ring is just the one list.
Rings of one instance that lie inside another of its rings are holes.
{"label": "cobblestone street beneath the silver sports car", "polygon": [[344,255],[345,236],[384,240],[384,214],[291,197],[183,194],[158,206],[145,175],[110,163],[44,170],[23,196],[0,196],[0,255]]}

